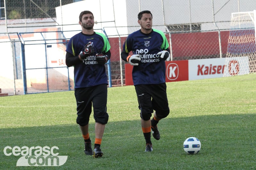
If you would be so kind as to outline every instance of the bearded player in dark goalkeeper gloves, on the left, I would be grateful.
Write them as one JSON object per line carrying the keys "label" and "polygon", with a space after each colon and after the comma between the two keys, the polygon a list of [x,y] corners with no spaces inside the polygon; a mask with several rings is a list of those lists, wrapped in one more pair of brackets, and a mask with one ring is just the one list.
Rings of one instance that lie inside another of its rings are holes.
{"label": "bearded player in dark goalkeeper gloves, on the left", "polygon": [[[110,58],[110,44],[102,33],[94,32],[94,16],[91,11],[79,15],[82,32],[70,38],[66,49],[66,65],[74,66],[76,123],[84,137],[84,152],[94,158],[103,155],[100,145],[108,122],[107,85],[108,78],[104,64]],[[89,136],[89,118],[95,120],[95,142],[92,151]]]}

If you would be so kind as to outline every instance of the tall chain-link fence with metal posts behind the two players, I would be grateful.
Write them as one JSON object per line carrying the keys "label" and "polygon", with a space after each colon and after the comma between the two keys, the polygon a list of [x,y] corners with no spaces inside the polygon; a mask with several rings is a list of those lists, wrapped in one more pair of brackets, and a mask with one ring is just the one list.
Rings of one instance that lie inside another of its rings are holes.
{"label": "tall chain-link fence with metal posts behind the two players", "polygon": [[[1,68],[0,89],[6,95],[73,90],[65,45],[81,29],[78,16],[84,10],[93,12],[94,29],[109,39],[109,84],[119,86],[125,85],[126,63],[120,53],[127,35],[140,29],[140,11],[152,12],[153,29],[166,34],[174,61],[226,57],[231,13],[253,11],[255,6],[254,0],[0,1],[0,27],[6,30],[0,33],[1,60],[6,66]],[[63,86],[56,87],[60,82]]]}

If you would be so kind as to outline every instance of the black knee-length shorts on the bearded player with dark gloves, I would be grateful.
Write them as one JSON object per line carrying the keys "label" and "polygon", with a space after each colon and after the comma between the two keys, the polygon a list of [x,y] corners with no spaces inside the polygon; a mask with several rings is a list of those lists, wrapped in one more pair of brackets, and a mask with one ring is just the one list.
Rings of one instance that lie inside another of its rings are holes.
{"label": "black knee-length shorts on the bearded player with dark gloves", "polygon": [[107,124],[107,84],[92,87],[76,88],[76,123],[85,126],[89,123],[93,107],[93,117],[95,122]]}

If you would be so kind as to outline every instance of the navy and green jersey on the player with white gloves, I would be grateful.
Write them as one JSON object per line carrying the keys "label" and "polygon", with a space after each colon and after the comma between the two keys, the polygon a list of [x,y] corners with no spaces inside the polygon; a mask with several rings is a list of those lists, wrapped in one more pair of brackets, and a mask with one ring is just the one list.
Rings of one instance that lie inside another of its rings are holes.
{"label": "navy and green jersey on the player with white gloves", "polygon": [[[152,30],[144,34],[140,30],[131,33],[125,40],[123,52],[140,54],[141,62],[133,66],[132,79],[134,85],[160,84],[165,82],[165,61],[156,55],[158,52],[168,50],[169,43],[160,30]],[[122,52],[122,53],[123,53]],[[122,59],[126,61],[126,56]]]}

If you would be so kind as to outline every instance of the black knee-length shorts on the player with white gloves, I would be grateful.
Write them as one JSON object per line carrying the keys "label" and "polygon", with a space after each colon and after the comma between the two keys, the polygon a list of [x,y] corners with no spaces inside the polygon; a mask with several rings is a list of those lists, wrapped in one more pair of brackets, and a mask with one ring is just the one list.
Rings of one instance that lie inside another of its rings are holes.
{"label": "black knee-length shorts on the player with white gloves", "polygon": [[170,110],[166,94],[166,84],[135,85],[140,117],[149,120],[154,110],[158,118],[166,117]]}

